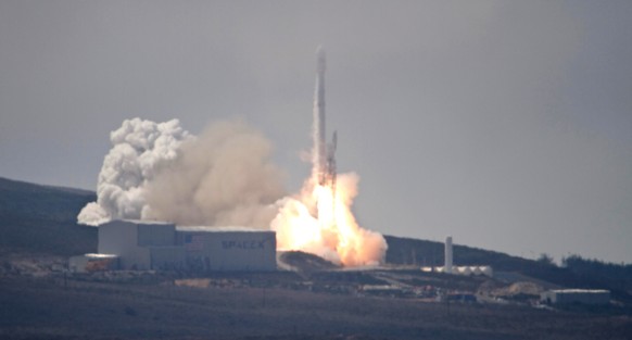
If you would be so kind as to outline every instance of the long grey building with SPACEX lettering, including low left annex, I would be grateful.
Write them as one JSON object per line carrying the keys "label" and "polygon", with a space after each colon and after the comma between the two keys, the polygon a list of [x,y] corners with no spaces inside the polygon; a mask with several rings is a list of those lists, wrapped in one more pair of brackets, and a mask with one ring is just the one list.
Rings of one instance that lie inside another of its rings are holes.
{"label": "long grey building with SPACEX lettering, including low left annex", "polygon": [[276,270],[276,234],[269,230],[112,221],[99,226],[99,254],[71,257],[69,267],[75,272]]}

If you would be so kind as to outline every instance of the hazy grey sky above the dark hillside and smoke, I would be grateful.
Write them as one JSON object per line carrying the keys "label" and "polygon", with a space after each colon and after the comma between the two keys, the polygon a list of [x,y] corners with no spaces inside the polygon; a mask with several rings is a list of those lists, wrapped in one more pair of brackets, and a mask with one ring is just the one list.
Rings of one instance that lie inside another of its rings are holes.
{"label": "hazy grey sky above the dark hillside and smoke", "polygon": [[298,190],[320,43],[364,227],[632,263],[632,1],[0,0],[0,176],[93,190],[123,119],[240,116]]}

